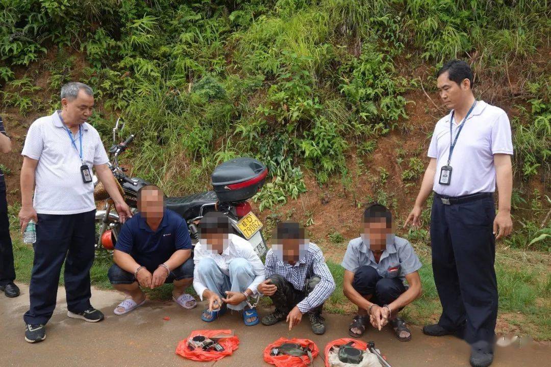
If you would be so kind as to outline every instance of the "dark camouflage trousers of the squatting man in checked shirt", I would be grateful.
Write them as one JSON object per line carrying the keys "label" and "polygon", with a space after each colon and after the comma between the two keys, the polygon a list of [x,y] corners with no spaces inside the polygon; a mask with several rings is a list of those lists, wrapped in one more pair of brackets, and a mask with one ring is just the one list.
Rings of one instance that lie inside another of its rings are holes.
{"label": "dark camouflage trousers of the squatting man in checked shirt", "polygon": [[[301,302],[307,295],[312,292],[314,287],[320,283],[321,278],[314,276],[311,278],[306,278],[305,291],[297,291],[293,284],[289,282],[284,277],[274,274],[269,277],[272,284],[277,287],[276,293],[270,296],[272,303],[279,311],[282,311],[284,314],[288,314],[294,306]],[[321,313],[323,309],[323,303],[317,306],[315,309],[310,310],[311,313]]]}

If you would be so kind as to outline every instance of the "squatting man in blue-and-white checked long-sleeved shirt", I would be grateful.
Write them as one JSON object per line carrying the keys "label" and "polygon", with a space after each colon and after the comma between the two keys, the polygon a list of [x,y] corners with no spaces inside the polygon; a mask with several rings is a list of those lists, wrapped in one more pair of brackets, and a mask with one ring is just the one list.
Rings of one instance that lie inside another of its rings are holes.
{"label": "squatting man in blue-and-white checked long-sleeved shirt", "polygon": [[325,333],[321,310],[335,281],[320,248],[305,238],[304,228],[296,222],[279,223],[274,238],[266,254],[266,280],[258,285],[258,292],[269,296],[276,310],[263,317],[262,324],[286,320],[291,330],[308,314],[312,331]]}

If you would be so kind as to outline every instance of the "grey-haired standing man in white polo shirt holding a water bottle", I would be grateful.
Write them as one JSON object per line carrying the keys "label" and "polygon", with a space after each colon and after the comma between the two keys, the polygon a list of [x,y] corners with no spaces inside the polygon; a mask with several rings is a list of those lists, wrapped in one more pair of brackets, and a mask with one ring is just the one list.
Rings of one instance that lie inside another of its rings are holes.
{"label": "grey-haired standing man in white polo shirt holding a water bottle", "polygon": [[67,316],[89,322],[104,318],[90,305],[96,210],[92,167],[115,201],[121,221],[131,217],[107,167],[100,136],[86,122],[94,108],[92,89],[67,83],[61,88],[61,105],[61,111],[31,124],[21,153],[21,230],[31,219],[36,222],[30,309],[23,317],[29,343],[46,338],[44,325],[56,306],[63,261]]}

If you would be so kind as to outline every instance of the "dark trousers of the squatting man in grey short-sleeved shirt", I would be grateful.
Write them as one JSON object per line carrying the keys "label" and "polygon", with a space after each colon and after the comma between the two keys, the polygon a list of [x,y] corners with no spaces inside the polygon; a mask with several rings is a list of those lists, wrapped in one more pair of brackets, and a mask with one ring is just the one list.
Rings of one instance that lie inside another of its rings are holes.
{"label": "dark trousers of the squatting man in grey short-sleeved shirt", "polygon": [[369,265],[361,266],[354,273],[352,287],[363,296],[371,295],[370,302],[379,306],[391,304],[406,292],[406,287],[399,278],[383,278]]}

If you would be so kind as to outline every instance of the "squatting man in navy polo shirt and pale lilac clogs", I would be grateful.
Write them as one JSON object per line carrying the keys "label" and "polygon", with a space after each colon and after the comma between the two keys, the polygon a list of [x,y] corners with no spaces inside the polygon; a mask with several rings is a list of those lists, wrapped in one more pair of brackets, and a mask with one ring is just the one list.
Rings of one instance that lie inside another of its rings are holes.
{"label": "squatting man in navy polo shirt and pale lilac clogs", "polygon": [[193,282],[191,239],[186,221],[164,206],[164,193],[154,185],[138,191],[138,213],[118,235],[109,281],[128,298],[116,308],[127,314],[145,303],[142,288],[173,283],[172,299],[186,309],[197,303],[185,289]]}

